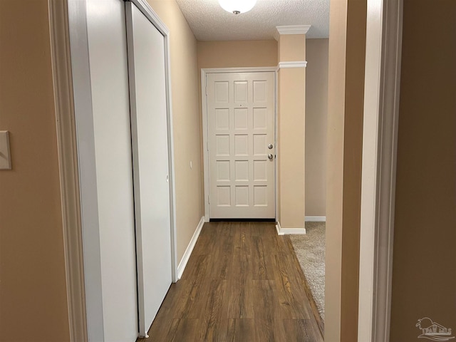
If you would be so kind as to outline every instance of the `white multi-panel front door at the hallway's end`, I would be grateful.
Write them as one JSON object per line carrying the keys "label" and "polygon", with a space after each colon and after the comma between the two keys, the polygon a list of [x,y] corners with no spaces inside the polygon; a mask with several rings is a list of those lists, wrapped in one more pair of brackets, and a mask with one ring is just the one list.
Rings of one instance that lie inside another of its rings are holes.
{"label": "white multi-panel front door at the hallway's end", "polygon": [[208,73],[209,213],[274,219],[274,72]]}

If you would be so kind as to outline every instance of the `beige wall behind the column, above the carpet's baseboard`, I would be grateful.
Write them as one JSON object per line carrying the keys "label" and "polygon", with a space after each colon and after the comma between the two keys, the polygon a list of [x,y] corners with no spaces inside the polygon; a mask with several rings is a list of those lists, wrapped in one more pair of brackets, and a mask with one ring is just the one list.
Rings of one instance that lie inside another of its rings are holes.
{"label": "beige wall behind the column, above the carpet's baseboard", "polygon": [[307,39],[306,61],[306,216],[325,216],[328,39]]}

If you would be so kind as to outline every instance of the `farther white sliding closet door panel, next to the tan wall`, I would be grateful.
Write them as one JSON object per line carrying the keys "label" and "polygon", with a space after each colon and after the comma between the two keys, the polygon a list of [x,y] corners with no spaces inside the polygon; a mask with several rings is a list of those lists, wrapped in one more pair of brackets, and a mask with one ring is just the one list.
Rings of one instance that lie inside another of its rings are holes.
{"label": "farther white sliding closet door panel, next to the tan wall", "polygon": [[126,3],[140,336],[170,287],[171,223],[165,38]]}

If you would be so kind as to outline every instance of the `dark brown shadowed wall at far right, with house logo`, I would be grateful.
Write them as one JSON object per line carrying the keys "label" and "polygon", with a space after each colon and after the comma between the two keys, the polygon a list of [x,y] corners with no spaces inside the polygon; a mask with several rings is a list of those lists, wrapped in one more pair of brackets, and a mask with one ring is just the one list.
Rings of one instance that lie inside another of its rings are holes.
{"label": "dark brown shadowed wall at far right, with house logo", "polygon": [[455,33],[454,0],[404,1],[391,342],[423,317],[455,336]]}

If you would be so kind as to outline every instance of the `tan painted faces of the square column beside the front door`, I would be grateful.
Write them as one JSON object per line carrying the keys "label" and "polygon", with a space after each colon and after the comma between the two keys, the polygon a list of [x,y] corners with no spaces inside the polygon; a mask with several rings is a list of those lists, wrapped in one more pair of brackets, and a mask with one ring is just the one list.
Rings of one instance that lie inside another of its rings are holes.
{"label": "tan painted faces of the square column beside the front door", "polygon": [[[306,35],[279,38],[279,62],[306,61]],[[306,68],[281,68],[277,74],[279,143],[279,223],[304,228]]]}

